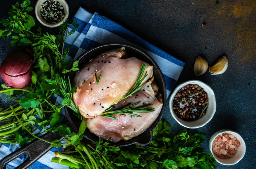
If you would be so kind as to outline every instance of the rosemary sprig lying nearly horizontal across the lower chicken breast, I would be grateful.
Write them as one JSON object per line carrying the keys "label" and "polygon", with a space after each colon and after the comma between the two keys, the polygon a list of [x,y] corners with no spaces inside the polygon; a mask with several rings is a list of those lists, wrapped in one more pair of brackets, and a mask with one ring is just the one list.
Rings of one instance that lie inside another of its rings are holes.
{"label": "rosemary sprig lying nearly horizontal across the lower chicken breast", "polygon": [[141,101],[138,101],[133,104],[129,103],[126,106],[121,107],[120,109],[111,111],[111,109],[114,107],[114,105],[113,105],[113,106],[109,107],[108,109],[106,109],[103,113],[101,113],[100,116],[110,118],[113,120],[117,120],[117,118],[112,115],[123,115],[123,116],[131,115],[131,116],[135,116],[135,117],[142,117],[141,115],[137,115],[134,113],[150,113],[150,112],[155,111],[154,108],[148,108],[148,107],[152,106],[153,104],[148,104],[148,105],[139,106],[139,107],[133,107],[133,106],[138,105],[139,103],[141,103]]}

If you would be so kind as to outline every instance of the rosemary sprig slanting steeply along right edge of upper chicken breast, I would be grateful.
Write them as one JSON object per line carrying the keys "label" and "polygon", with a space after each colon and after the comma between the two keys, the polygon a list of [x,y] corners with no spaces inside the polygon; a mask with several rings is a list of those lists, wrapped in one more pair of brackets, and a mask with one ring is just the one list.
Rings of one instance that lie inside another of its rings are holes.
{"label": "rosemary sprig slanting steeply along right edge of upper chicken breast", "polygon": [[[135,92],[139,91],[141,88],[143,88],[144,84],[141,84],[142,81],[147,77],[148,73],[146,71],[146,73],[144,74],[144,76],[142,77],[144,71],[146,68],[146,63],[142,64],[141,69],[139,71],[139,75],[136,79],[136,82],[134,84],[134,86],[132,87],[132,89],[126,93],[126,95],[124,95],[124,97],[122,97],[118,102],[120,102],[121,100],[124,100],[125,98],[129,97],[130,95],[134,94]],[[140,85],[141,84],[141,85]]]}

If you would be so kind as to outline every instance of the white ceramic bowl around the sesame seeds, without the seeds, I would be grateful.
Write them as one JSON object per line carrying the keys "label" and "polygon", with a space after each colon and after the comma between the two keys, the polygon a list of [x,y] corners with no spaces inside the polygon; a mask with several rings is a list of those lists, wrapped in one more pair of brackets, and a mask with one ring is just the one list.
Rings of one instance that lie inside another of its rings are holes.
{"label": "white ceramic bowl around the sesame seeds, without the seeds", "polygon": [[35,12],[36,12],[36,18],[38,19],[38,21],[44,25],[44,26],[47,26],[47,27],[57,27],[57,26],[60,26],[62,25],[68,18],[68,14],[69,14],[69,9],[68,9],[68,4],[65,0],[58,0],[58,2],[63,6],[64,8],[64,11],[65,11],[65,15],[64,15],[64,18],[59,21],[58,23],[48,23],[46,22],[42,16],[41,16],[41,12],[40,12],[40,8],[41,8],[41,5],[42,3],[44,3],[45,1],[47,0],[38,0],[36,2],[36,6],[35,6]]}

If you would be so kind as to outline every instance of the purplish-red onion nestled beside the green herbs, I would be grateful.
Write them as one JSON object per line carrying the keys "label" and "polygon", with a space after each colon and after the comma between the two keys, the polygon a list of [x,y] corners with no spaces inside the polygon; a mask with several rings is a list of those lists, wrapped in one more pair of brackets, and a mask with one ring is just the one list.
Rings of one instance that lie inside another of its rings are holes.
{"label": "purplish-red onion nestled beside the green herbs", "polygon": [[12,54],[3,60],[0,65],[0,76],[5,85],[13,88],[25,88],[31,82],[31,56],[22,52]]}

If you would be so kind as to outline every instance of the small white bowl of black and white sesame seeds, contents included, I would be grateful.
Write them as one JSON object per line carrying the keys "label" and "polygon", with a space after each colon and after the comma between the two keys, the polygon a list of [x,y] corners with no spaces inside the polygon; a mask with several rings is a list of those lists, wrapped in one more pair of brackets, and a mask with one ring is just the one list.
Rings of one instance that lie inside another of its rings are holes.
{"label": "small white bowl of black and white sesame seeds, contents included", "polygon": [[68,18],[68,4],[65,0],[38,0],[35,13],[36,18],[42,25],[57,27]]}

